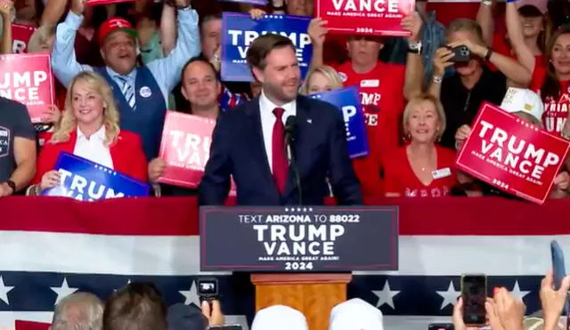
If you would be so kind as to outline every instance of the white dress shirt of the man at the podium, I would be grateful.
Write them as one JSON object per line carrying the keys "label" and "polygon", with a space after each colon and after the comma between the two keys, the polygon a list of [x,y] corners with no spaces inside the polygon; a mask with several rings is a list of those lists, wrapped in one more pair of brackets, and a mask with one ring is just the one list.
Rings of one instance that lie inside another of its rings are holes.
{"label": "white dress shirt of the man at the podium", "polygon": [[272,101],[265,97],[265,93],[261,92],[259,96],[259,110],[261,111],[261,130],[264,134],[265,153],[267,154],[267,161],[269,169],[273,173],[273,125],[275,125],[275,115],[273,110],[281,108],[285,111],[281,117],[283,125],[287,123],[289,116],[297,116],[297,101],[293,100],[289,103],[283,104],[281,107],[276,106]]}

